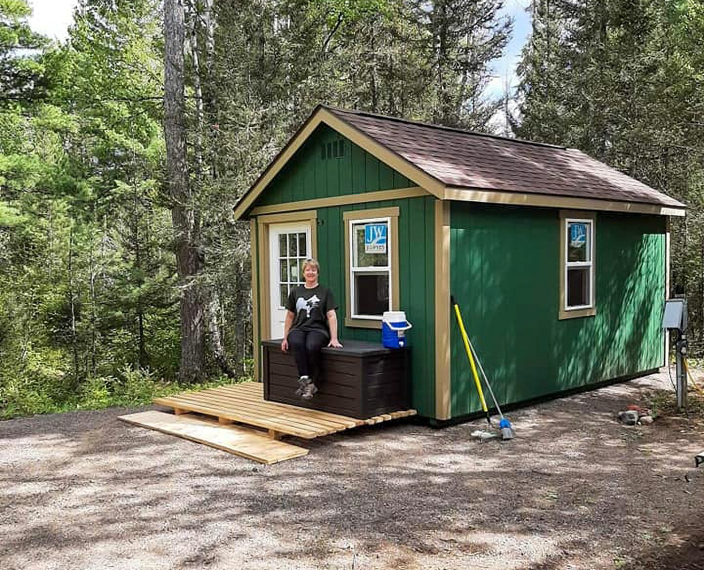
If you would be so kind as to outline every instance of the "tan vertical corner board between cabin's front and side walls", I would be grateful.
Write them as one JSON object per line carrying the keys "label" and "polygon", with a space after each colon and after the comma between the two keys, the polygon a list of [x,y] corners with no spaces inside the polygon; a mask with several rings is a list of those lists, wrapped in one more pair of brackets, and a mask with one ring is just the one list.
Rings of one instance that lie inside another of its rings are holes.
{"label": "tan vertical corner board between cabin's front and side walls", "polygon": [[450,203],[435,201],[435,417],[450,419]]}

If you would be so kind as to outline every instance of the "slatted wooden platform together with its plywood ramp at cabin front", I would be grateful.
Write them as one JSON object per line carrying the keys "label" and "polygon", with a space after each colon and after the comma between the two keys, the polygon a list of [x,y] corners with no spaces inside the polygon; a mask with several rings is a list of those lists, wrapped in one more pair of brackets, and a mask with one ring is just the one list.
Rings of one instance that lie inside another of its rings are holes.
{"label": "slatted wooden platform together with its plywood ramp at cabin front", "polygon": [[[264,400],[263,384],[258,382],[184,392],[156,398],[154,403],[171,407],[175,414],[141,412],[121,416],[119,419],[265,464],[301,457],[308,453],[308,450],[297,445],[279,441],[282,436],[313,439],[417,413],[415,410],[402,410],[369,419],[356,419],[267,402]],[[189,412],[197,412],[209,418]]]}

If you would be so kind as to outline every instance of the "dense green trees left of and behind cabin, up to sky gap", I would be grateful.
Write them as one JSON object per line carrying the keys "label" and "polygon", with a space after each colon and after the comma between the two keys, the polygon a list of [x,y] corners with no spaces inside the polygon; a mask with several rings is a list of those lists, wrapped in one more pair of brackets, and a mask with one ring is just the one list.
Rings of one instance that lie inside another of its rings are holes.
{"label": "dense green trees left of and behind cabin, up to sky gap", "polygon": [[[443,100],[438,120],[483,129],[496,102],[479,91],[509,27],[498,0],[186,5],[193,284],[213,347],[203,376],[222,382],[218,343],[253,372],[249,227],[232,220],[251,182],[321,102],[432,120]],[[160,11],[80,0],[51,44],[24,0],[0,0],[1,417],[184,388]]]}

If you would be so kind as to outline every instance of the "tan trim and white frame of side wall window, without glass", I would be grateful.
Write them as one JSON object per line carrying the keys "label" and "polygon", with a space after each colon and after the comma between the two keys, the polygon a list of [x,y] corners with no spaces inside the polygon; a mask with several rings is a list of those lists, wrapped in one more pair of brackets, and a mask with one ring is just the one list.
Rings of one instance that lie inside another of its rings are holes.
{"label": "tan trim and white frame of side wall window, without glass", "polygon": [[[595,249],[596,249],[596,216],[593,214],[584,215],[584,213],[560,213],[560,319],[568,319],[572,317],[591,317],[596,314],[596,265],[595,265]],[[570,224],[586,224],[587,236],[587,260],[586,261],[569,261],[569,248],[567,247],[567,236]],[[586,305],[567,305],[567,274],[570,269],[589,269],[589,303]]]}

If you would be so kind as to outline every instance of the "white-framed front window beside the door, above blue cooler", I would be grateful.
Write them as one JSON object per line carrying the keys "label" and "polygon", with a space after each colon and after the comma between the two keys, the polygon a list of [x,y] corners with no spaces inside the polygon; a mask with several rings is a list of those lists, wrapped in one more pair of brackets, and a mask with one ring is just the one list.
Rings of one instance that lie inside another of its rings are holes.
{"label": "white-framed front window beside the door, above blue cooler", "polygon": [[391,217],[349,220],[353,319],[379,320],[391,308]]}

